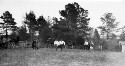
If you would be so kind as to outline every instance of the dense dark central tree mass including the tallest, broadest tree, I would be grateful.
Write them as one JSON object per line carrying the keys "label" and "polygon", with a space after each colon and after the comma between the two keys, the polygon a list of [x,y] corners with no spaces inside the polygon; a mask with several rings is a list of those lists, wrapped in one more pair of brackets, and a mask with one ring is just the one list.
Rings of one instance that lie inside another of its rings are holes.
{"label": "dense dark central tree mass including the tallest, broadest tree", "polygon": [[74,2],[65,5],[65,10],[60,10],[59,14],[62,16],[60,19],[53,17],[49,22],[43,16],[36,18],[33,11],[26,13],[24,24],[29,28],[31,38],[36,30],[44,43],[49,38],[63,39],[66,42],[74,41],[78,37],[87,38],[88,31],[91,30],[88,26],[88,10]]}

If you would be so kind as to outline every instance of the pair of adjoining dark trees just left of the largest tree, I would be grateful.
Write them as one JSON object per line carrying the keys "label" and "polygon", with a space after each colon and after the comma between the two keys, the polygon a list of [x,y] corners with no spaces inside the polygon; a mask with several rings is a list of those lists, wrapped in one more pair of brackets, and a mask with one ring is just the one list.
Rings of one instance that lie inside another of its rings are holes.
{"label": "pair of adjoining dark trees just left of the largest tree", "polygon": [[35,31],[39,31],[39,38],[46,42],[48,36],[51,33],[51,29],[49,29],[49,23],[45,20],[43,16],[39,16],[36,18],[33,11],[30,13],[26,13],[25,24],[27,24],[29,31],[31,33],[31,38],[33,38],[33,34]]}

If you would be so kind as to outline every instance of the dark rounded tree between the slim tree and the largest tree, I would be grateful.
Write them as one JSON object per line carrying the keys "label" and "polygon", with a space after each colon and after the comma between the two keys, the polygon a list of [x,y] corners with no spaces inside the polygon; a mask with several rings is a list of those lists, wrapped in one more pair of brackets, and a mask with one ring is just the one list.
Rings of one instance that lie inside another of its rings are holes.
{"label": "dark rounded tree between the slim tree and the largest tree", "polygon": [[47,39],[51,36],[51,29],[49,28],[49,21],[45,20],[43,16],[39,16],[37,19],[38,31],[43,42],[46,43]]}

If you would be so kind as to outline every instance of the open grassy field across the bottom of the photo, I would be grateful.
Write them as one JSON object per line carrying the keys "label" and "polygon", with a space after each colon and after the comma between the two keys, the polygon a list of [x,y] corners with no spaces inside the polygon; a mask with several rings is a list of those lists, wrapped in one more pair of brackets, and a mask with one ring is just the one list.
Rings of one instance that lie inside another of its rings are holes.
{"label": "open grassy field across the bottom of the photo", "polygon": [[50,48],[0,50],[0,66],[125,66],[125,53]]}

